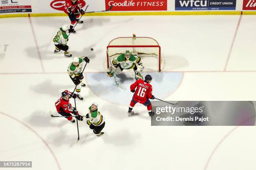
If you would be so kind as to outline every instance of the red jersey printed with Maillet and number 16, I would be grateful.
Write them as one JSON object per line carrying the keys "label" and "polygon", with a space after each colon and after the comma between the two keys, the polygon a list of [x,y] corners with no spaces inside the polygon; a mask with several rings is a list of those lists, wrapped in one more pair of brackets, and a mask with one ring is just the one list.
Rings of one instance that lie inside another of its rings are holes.
{"label": "red jersey printed with Maillet and number 16", "polygon": [[146,102],[147,99],[150,99],[152,97],[152,85],[148,82],[144,82],[141,79],[136,80],[136,82],[134,82],[130,86],[130,89],[131,91],[136,89],[136,92],[134,93],[133,97],[138,99],[138,102]]}

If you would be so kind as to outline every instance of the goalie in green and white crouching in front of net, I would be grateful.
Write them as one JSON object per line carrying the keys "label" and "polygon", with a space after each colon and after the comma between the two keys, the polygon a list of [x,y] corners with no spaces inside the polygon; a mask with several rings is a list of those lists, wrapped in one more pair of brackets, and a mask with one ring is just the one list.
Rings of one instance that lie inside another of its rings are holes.
{"label": "goalie in green and white crouching in front of net", "polygon": [[144,70],[144,66],[142,65],[141,58],[137,55],[131,54],[129,50],[126,50],[125,53],[115,57],[111,62],[110,67],[107,70],[107,74],[109,77],[112,77],[114,74],[120,74],[124,69],[133,70],[133,75],[136,80],[142,79],[141,71]]}

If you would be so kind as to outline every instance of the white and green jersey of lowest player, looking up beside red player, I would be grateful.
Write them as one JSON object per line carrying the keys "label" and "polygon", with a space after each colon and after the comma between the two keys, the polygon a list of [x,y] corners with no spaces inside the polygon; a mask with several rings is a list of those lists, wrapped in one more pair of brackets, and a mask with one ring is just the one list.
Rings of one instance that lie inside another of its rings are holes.
{"label": "white and green jersey of lowest player, looking up beside red player", "polygon": [[88,125],[100,126],[105,122],[105,117],[103,117],[98,110],[93,110],[92,107],[89,107],[89,119],[87,120]]}

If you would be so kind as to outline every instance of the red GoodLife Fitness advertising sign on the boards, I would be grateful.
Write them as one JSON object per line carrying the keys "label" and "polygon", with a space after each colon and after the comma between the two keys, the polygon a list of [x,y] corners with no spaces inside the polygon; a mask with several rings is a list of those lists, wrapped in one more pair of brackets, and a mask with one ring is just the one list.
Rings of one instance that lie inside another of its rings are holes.
{"label": "red GoodLife Fitness advertising sign on the boards", "polygon": [[111,11],[167,10],[167,0],[105,0],[106,9],[111,5]]}

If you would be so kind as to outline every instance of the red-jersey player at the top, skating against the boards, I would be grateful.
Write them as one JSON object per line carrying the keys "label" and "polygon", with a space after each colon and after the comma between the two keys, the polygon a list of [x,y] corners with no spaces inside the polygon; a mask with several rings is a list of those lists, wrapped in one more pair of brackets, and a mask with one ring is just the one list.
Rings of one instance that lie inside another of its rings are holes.
{"label": "red-jersey player at the top, skating against the boards", "polygon": [[76,33],[73,29],[74,25],[77,22],[84,23],[82,20],[79,20],[80,13],[84,15],[84,10],[82,10],[79,0],[66,0],[64,12],[69,15],[71,21],[69,32]]}

